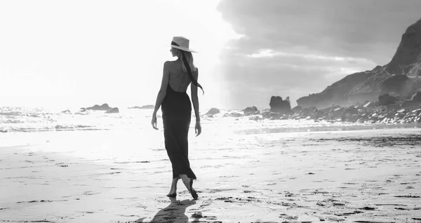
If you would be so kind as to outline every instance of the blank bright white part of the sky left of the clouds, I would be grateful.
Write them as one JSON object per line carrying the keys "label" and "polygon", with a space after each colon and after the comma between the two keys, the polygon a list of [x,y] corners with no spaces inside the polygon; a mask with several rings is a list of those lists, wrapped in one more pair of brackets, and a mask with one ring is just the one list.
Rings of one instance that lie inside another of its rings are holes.
{"label": "blank bright white part of the sky left of the clouds", "polygon": [[201,107],[223,107],[215,68],[225,43],[237,35],[217,4],[0,1],[0,106],[155,104],[163,63],[176,59],[171,40],[185,36],[198,51]]}

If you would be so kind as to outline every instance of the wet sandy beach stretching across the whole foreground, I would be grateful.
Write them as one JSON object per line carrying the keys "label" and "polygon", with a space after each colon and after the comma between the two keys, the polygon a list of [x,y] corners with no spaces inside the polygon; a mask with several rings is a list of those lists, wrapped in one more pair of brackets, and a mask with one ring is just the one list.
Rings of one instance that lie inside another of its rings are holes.
{"label": "wet sandy beach stretching across the whole foreground", "polygon": [[166,197],[161,130],[1,136],[0,222],[421,222],[419,128],[190,134]]}

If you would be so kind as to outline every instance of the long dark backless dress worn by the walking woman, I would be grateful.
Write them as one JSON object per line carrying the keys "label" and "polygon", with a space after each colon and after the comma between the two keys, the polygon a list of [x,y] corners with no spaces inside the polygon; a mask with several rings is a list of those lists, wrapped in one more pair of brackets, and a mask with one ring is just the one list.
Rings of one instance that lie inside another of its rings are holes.
{"label": "long dark backless dress worn by the walking woman", "polygon": [[196,179],[189,162],[189,134],[192,104],[186,92],[177,92],[168,83],[161,104],[165,148],[173,165],[173,178],[185,174]]}

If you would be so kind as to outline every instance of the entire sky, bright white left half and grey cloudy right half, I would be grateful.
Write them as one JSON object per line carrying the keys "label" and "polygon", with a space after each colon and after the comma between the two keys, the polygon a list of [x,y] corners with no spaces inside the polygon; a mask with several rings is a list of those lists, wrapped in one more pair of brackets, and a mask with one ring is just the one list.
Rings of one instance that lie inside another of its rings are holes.
{"label": "entire sky, bright white left half and grey cloudy right half", "polygon": [[418,0],[0,1],[0,106],[154,104],[173,36],[201,108],[269,107],[385,65]]}

